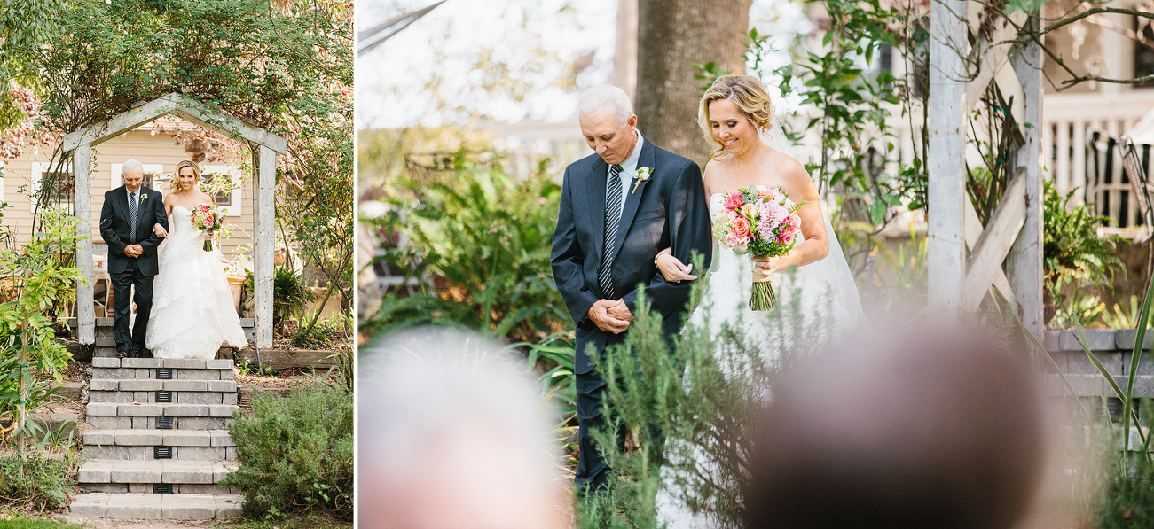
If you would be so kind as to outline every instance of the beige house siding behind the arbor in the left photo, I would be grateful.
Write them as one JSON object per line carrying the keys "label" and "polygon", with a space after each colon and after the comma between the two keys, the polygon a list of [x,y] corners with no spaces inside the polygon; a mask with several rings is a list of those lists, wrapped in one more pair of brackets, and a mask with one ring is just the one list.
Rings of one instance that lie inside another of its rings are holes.
{"label": "beige house siding behind the arbor in the left photo", "polygon": [[[23,243],[28,240],[32,228],[32,203],[29,194],[20,192],[21,187],[31,191],[37,184],[32,181],[32,173],[43,171],[42,167],[50,163],[51,150],[40,149],[39,152],[29,150],[15,160],[3,163],[3,173],[0,177],[0,194],[2,199],[9,204],[3,212],[3,225],[16,232],[16,240]],[[171,175],[181,160],[189,159],[182,144],[177,144],[167,134],[152,135],[147,127],[120,135],[95,148],[92,163],[92,242],[103,244],[100,237],[99,214],[104,206],[104,194],[121,186],[120,166],[129,159],[136,159],[145,167],[145,173],[159,168],[165,175]],[[240,174],[242,160],[222,160],[202,163],[202,166],[228,166],[234,168],[234,174]],[[156,166],[156,167],[153,167]],[[70,169],[70,167],[69,167]],[[235,176],[234,176],[235,177]],[[115,180],[115,181],[113,181]],[[250,251],[253,244],[253,182],[249,175],[243,175],[245,182],[234,192],[233,206],[226,224],[232,225],[233,236],[220,241],[222,252],[225,259],[252,260]],[[167,194],[171,189],[167,184],[158,189]],[[235,194],[240,195],[240,199]],[[239,206],[240,214],[234,211]]]}

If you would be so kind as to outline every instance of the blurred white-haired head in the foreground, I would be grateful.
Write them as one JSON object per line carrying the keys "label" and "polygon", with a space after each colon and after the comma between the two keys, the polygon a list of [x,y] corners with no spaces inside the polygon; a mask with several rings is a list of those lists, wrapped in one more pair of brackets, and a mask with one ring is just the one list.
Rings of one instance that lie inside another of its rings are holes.
{"label": "blurred white-haired head in the foreground", "polygon": [[358,388],[358,527],[563,527],[553,424],[524,360],[458,331],[370,347]]}

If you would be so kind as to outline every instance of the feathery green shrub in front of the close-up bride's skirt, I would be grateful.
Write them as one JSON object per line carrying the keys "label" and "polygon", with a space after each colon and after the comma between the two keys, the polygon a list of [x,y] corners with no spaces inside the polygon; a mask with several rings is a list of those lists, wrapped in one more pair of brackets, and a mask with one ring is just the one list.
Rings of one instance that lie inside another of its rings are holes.
{"label": "feathery green shrub in front of the close-up bride's skirt", "polygon": [[[670,348],[661,316],[639,302],[625,342],[597,361],[607,383],[606,429],[593,438],[615,478],[578,504],[577,527],[657,529],[655,498],[662,489],[692,512],[710,513],[717,527],[741,527],[751,417],[764,413],[774,375],[820,347],[823,340],[815,337],[830,335],[829,308],[817,308],[804,320],[785,317],[802,311],[794,296],[779,309],[748,316],[773,330],[778,343],[745,331],[742,322],[722,322],[711,334],[706,315],[702,324],[687,324]],[[627,446],[614,432],[628,432]]]}

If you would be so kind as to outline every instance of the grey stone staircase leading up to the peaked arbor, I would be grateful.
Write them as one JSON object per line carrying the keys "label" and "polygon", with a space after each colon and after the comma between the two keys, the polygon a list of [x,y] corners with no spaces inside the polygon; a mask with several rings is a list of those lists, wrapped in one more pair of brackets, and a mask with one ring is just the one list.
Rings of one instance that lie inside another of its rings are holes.
{"label": "grey stone staircase leading up to the peaked arbor", "polygon": [[77,476],[91,492],[76,497],[72,513],[170,520],[239,515],[243,494],[219,484],[237,468],[227,430],[240,409],[233,361],[117,358],[111,340],[111,318],[98,318],[85,408],[90,428]]}

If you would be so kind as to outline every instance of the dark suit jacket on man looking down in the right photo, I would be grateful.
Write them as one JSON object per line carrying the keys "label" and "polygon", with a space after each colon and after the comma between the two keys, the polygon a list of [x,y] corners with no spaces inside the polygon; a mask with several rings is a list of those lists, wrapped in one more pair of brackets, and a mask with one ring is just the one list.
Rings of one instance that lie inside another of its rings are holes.
{"label": "dark suit jacket on man looking down in the right photo", "polygon": [[[702,172],[687,158],[642,143],[637,167],[652,167],[650,180],[634,191],[636,179],[624,189],[625,206],[617,231],[617,254],[613,262],[613,288],[630,311],[636,311],[637,286],[645,285],[645,296],[654,311],[665,317],[667,334],[680,332],[691,282],[668,282],[653,265],[653,257],[673,248],[674,257],[691,262],[700,254],[709,266],[713,251],[709,205],[702,186]],[[577,323],[576,372],[586,373],[593,362],[586,350],[598,353],[607,345],[623,341],[625,333],[601,331],[585,315],[605,297],[597,271],[605,248],[605,187],[609,167],[597,154],[565,168],[561,211],[553,233],[553,278],[565,307]],[[698,272],[700,273],[700,272]]]}

